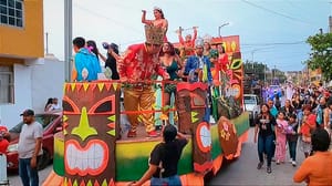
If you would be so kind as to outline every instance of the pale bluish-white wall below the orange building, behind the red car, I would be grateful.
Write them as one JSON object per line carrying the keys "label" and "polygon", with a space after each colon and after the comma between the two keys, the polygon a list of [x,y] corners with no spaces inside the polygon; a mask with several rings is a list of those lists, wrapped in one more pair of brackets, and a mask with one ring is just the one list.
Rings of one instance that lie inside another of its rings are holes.
{"label": "pale bluish-white wall below the orange building, behind the red car", "polygon": [[54,58],[27,61],[14,65],[14,104],[0,105],[0,121],[11,128],[22,121],[20,113],[33,108],[43,112],[49,97],[61,103],[64,83],[64,63]]}

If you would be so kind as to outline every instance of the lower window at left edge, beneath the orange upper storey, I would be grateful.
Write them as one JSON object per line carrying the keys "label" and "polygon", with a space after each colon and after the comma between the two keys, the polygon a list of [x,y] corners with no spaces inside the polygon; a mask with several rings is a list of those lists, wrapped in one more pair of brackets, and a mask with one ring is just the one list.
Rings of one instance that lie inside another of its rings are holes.
{"label": "lower window at left edge, beneath the orange upper storey", "polygon": [[0,65],[0,104],[13,103],[13,65]]}

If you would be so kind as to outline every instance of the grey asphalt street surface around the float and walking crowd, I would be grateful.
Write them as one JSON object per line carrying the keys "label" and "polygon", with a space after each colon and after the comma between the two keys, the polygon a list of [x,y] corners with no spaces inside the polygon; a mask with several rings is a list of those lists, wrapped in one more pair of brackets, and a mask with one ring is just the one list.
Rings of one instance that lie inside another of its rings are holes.
{"label": "grey asphalt street surface around the float and walking crowd", "polygon": [[[300,165],[304,159],[304,155],[300,149],[298,149],[297,158],[298,165]],[[292,182],[292,176],[298,167],[293,167],[288,162],[280,165],[276,165],[276,163],[272,162],[271,174],[267,174],[266,165],[258,170],[256,168],[257,164],[257,144],[253,143],[253,127],[251,127],[249,130],[248,142],[242,145],[241,156],[231,163],[224,162],[222,167],[216,177],[212,177],[210,180],[206,180],[206,185],[305,185],[304,183],[294,184]],[[40,183],[45,180],[52,168],[53,166],[49,165],[45,169],[39,173]],[[9,180],[11,185],[21,185],[18,174],[9,174]]]}

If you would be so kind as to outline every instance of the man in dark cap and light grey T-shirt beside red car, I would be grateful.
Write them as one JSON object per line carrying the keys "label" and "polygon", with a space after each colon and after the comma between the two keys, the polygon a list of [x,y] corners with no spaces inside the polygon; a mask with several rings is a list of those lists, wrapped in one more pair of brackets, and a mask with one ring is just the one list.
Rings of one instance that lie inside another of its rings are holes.
{"label": "man in dark cap and light grey T-shirt beside red car", "polygon": [[25,110],[19,138],[19,175],[23,186],[38,186],[38,159],[42,155],[43,127],[34,120],[34,112]]}

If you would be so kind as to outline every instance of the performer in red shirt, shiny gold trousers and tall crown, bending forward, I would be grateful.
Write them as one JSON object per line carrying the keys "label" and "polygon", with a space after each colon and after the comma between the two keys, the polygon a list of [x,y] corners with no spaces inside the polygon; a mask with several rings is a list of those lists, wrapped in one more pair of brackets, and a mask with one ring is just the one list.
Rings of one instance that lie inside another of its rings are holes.
{"label": "performer in red shirt, shiny gold trousers and tall crown, bending forward", "polygon": [[120,80],[125,84],[124,107],[128,112],[131,130],[127,137],[137,135],[138,115],[146,127],[149,137],[156,137],[154,126],[153,104],[155,96],[151,80],[159,74],[169,79],[169,74],[159,65],[158,52],[163,44],[164,30],[158,27],[145,25],[146,42],[128,46],[124,55],[118,60]]}

